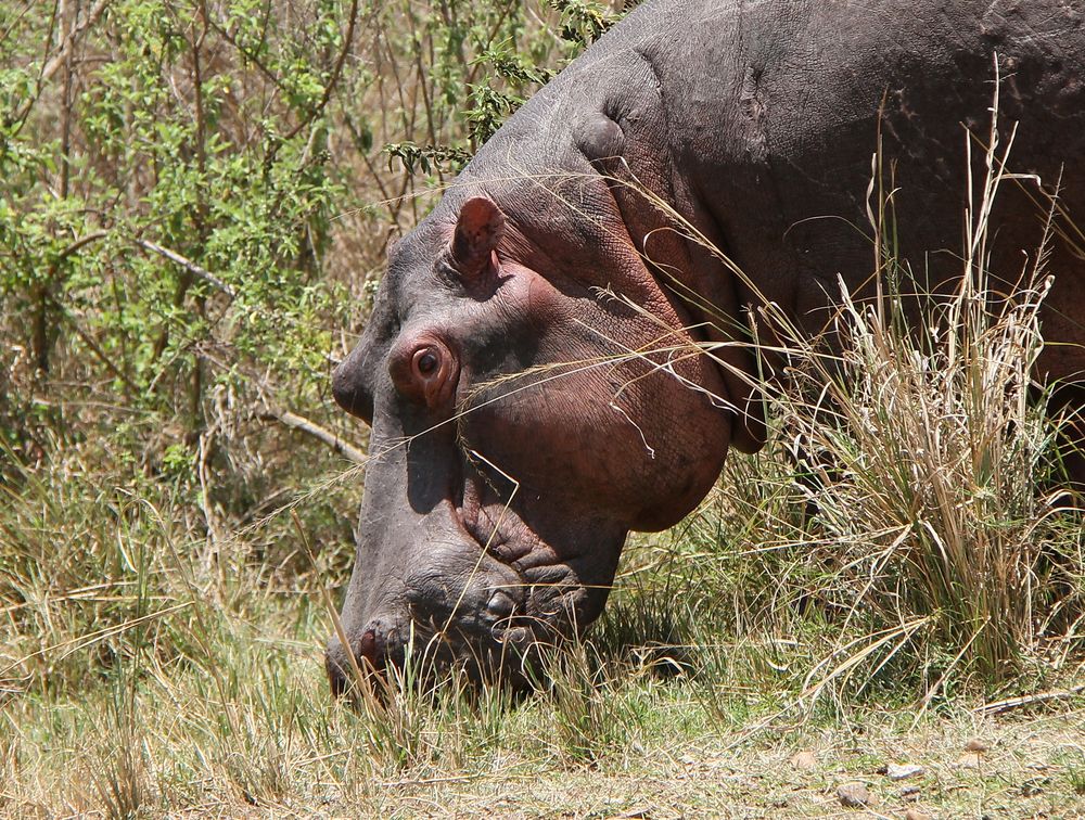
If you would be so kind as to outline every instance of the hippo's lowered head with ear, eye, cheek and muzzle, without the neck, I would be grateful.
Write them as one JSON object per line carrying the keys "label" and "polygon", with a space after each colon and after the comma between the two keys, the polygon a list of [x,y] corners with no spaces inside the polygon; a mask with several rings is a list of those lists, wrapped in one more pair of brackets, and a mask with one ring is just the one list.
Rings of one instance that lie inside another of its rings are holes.
{"label": "hippo's lowered head with ear, eye, cheek and muzzle, without the neck", "polygon": [[532,645],[598,617],[627,531],[673,525],[717,477],[725,379],[597,210],[454,190],[390,252],[333,376],[371,426],[336,693],[348,652],[522,681]]}

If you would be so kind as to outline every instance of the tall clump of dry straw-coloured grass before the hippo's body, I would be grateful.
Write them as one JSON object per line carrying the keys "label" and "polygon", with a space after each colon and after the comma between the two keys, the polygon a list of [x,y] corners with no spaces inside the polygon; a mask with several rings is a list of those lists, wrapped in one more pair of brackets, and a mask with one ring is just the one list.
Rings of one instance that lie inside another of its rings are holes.
{"label": "tall clump of dry straw-coloured grass before the hippo's body", "polygon": [[[810,697],[861,690],[885,672],[921,679],[929,703],[973,678],[1057,670],[1080,649],[1080,505],[1044,491],[1065,483],[1068,420],[1046,412],[1050,386],[1033,381],[1057,203],[1031,261],[992,271],[999,190],[1031,185],[1047,196],[1034,177],[1009,170],[1012,137],[999,145],[997,103],[996,89],[955,290],[916,293],[924,277],[893,253],[886,196],[870,214],[877,267],[864,300],[841,280],[837,311],[814,338],[771,303],[751,321],[779,375],[758,387],[778,425],[769,446],[788,450],[795,469],[748,461],[710,503],[723,505],[743,550],[720,564],[725,580],[736,567],[743,574],[736,624],[776,631],[814,607],[834,633],[804,682]],[[744,277],[666,203],[640,193]],[[689,353],[719,357],[722,347]],[[720,536],[712,526],[710,550]]]}

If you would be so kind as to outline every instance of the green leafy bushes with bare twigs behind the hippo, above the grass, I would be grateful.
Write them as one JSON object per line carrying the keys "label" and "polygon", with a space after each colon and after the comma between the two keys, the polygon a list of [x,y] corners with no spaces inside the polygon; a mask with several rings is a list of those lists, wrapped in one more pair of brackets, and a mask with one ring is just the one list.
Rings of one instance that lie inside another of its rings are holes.
{"label": "green leafy bushes with bare twigs behind the hippo, above the grass", "polygon": [[[271,474],[297,463],[263,444],[268,420],[346,430],[328,382],[349,346],[333,331],[371,296],[359,262],[378,270],[387,236],[420,216],[416,187],[462,167],[552,76],[547,61],[575,51],[556,50],[539,11],[0,3],[12,458],[104,435],[190,491],[203,470],[231,516],[273,492]],[[376,162],[382,144],[399,168]]]}

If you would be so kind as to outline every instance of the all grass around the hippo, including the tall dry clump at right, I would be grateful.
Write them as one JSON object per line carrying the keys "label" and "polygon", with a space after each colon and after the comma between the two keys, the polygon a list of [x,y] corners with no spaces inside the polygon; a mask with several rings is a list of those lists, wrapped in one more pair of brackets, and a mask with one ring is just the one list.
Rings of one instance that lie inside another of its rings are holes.
{"label": "all grass around the hippo, including the tall dry clump at right", "polygon": [[[291,508],[317,525],[259,526],[227,525],[213,476],[152,481],[94,443],[7,469],[0,813],[828,817],[858,780],[865,816],[1085,815],[1081,513],[1036,491],[1058,428],[1027,400],[1043,270],[990,286],[992,143],[940,321],[842,293],[835,347],[790,334],[766,453],[630,544],[608,614],[528,699],[408,670],[331,702],[347,551],[304,542],[344,515],[335,465]],[[780,458],[795,440],[818,458]],[[1036,689],[1064,696],[974,710]],[[890,763],[924,768],[915,799]]]}

